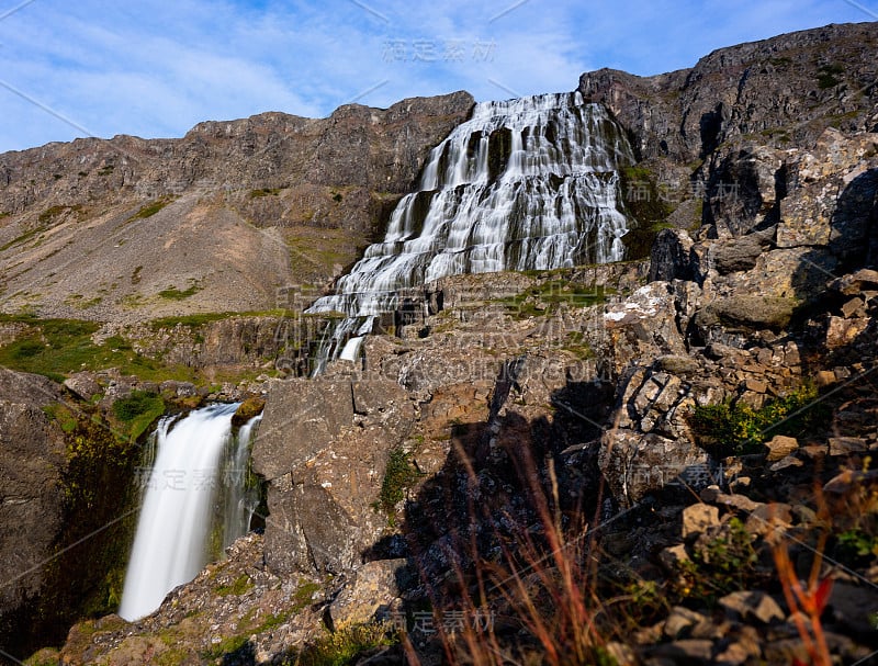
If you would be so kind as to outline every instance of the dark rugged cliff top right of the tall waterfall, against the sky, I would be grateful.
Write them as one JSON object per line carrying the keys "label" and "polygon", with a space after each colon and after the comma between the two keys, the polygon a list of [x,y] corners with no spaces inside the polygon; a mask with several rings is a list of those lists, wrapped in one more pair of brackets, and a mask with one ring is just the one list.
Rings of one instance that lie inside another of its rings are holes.
{"label": "dark rugged cliff top right of the tall waterfall, against the sky", "polygon": [[680,163],[723,143],[809,146],[823,129],[874,131],[875,23],[828,25],[720,48],[655,77],[599,69],[579,79],[637,136],[643,158]]}

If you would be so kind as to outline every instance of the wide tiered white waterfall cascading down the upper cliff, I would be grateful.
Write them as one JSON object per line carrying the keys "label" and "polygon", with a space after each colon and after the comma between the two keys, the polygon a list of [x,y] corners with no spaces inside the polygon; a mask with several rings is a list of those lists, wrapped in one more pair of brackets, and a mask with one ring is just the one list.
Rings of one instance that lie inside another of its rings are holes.
{"label": "wide tiered white waterfall cascading down the upper cliff", "polygon": [[337,293],[308,313],[345,319],[316,373],[396,309],[405,290],[460,273],[550,270],[623,258],[619,173],[634,163],[624,131],[578,92],[476,104],[430,153],[418,190],[391,215]]}

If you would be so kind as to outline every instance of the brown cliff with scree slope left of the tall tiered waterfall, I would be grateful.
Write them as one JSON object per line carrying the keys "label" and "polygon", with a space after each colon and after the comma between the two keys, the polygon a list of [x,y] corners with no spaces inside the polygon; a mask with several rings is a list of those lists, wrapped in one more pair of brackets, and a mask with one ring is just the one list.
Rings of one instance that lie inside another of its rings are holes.
{"label": "brown cliff with scree slope left of the tall tiered waterfall", "polygon": [[324,120],[266,113],[181,139],[2,155],[2,308],[136,320],[270,309],[279,287],[323,289],[472,104],[460,92]]}

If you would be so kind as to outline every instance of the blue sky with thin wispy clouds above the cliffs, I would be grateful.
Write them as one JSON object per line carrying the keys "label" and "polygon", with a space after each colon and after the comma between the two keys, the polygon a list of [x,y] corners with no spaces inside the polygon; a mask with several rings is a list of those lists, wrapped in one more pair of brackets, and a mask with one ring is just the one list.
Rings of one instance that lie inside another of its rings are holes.
{"label": "blue sky with thin wispy clouds above the cliffs", "polygon": [[461,89],[565,91],[599,67],[660,74],[875,20],[878,0],[0,0],[0,151]]}

